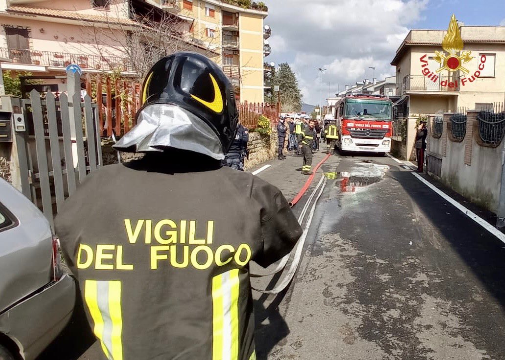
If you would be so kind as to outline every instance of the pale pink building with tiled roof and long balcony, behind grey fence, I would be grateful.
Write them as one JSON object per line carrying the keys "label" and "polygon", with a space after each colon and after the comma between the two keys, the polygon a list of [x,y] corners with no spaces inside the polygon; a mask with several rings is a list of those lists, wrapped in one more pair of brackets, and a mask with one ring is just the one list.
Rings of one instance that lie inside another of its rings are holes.
{"label": "pale pink building with tiled roof and long balcony, behind grey fence", "polygon": [[[146,71],[142,66],[150,66],[145,61],[149,56],[146,52],[160,50],[148,43],[150,34],[148,30],[141,30],[138,19],[147,19],[155,27],[157,23],[160,27],[165,26],[163,22],[169,24],[166,31],[171,37],[171,46],[204,53],[215,60],[221,56],[203,44],[184,38],[192,19],[166,12],[156,3],[0,0],[0,58],[7,59],[2,62],[2,69],[40,77],[40,91],[65,90],[62,75],[70,64],[79,65],[84,73],[119,71],[125,77],[138,76]],[[131,45],[132,39],[137,43]]]}

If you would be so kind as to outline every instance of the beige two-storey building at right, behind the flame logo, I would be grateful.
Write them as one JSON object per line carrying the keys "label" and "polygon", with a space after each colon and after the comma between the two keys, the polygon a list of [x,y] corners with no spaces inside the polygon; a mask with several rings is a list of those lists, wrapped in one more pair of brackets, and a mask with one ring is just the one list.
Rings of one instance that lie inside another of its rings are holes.
{"label": "beige two-storey building at right, behind the flame logo", "polygon": [[505,27],[454,26],[459,31],[449,35],[461,34],[463,46],[444,42],[447,30],[411,30],[396,51],[391,65],[404,116],[505,100]]}

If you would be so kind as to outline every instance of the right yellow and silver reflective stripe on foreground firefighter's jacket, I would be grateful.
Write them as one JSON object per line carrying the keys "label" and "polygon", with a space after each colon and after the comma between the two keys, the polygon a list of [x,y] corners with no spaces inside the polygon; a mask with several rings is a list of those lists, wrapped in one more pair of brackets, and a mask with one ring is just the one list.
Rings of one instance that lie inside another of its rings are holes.
{"label": "right yellow and silver reflective stripe on foreground firefighter's jacket", "polygon": [[238,360],[238,269],[212,279],[212,360]]}

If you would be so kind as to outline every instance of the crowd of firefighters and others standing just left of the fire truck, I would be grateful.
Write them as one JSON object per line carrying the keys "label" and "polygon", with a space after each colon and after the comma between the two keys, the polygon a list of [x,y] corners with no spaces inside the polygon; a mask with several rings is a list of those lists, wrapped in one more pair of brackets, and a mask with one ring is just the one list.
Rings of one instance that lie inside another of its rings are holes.
{"label": "crowd of firefighters and others standing just left of the fire truck", "polygon": [[[287,122],[287,126],[286,123]],[[321,126],[322,125],[322,126]],[[304,156],[304,162],[301,173],[312,175],[312,154],[319,150],[319,139],[326,141],[327,153],[333,153],[336,140],[338,140],[338,130],[334,119],[325,120],[320,124],[317,120],[293,117],[279,118],[277,124],[277,133],[279,135],[279,153],[278,159],[284,160],[284,143],[289,128],[289,140],[286,146],[287,151],[295,151],[296,155],[300,153]]]}

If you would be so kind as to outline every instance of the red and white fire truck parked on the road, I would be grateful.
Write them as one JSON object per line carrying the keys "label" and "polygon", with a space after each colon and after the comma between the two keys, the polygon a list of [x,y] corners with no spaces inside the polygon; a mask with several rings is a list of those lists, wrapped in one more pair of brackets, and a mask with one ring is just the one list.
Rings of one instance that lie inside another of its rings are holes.
{"label": "red and white fire truck parked on the road", "polygon": [[352,94],[335,105],[339,139],[337,148],[342,152],[378,152],[391,150],[392,102],[384,95]]}

